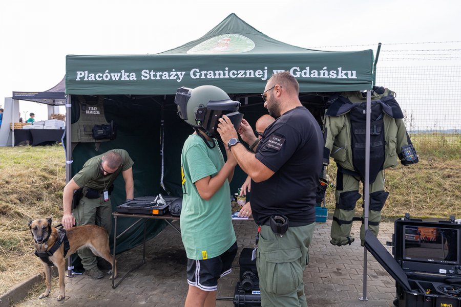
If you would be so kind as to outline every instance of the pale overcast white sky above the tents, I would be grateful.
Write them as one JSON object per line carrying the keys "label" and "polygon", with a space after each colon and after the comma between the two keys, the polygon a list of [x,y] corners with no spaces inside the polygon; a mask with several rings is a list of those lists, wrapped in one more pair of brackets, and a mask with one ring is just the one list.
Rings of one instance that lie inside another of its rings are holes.
{"label": "pale overcast white sky above the tents", "polygon": [[[64,77],[68,54],[162,52],[201,37],[231,13],[274,39],[303,48],[376,50],[382,42],[380,65],[390,65],[386,48],[461,50],[460,11],[461,2],[455,0],[2,1],[0,95],[50,89]],[[37,103],[21,102],[20,111],[46,119],[46,106]]]}

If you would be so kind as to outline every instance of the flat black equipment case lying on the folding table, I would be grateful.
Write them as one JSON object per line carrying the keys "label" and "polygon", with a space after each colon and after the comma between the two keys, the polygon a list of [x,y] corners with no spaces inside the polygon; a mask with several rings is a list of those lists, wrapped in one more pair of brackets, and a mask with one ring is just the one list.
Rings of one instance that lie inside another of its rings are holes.
{"label": "flat black equipment case lying on the folding table", "polygon": [[175,196],[142,196],[117,206],[117,212],[129,214],[163,215],[169,211],[170,204],[179,200]]}

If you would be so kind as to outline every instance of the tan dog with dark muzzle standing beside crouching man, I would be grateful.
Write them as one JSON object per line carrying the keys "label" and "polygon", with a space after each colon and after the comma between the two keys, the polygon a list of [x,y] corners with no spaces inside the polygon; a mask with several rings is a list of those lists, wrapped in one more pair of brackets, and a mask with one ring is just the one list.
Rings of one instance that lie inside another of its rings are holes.
{"label": "tan dog with dark muzzle standing beside crouching man", "polygon": [[[51,226],[52,222],[53,220],[51,217],[29,221],[29,229],[32,233],[32,237],[34,238],[34,246],[37,252],[48,251],[56,242],[59,233],[56,228]],[[66,232],[70,245],[70,249],[66,254],[66,258],[69,257],[69,255],[75,253],[78,249],[82,247],[88,247],[91,249],[93,254],[106,259],[110,264],[112,264],[113,257],[109,250],[109,235],[107,234],[106,229],[96,225],[83,225],[66,229]],[[53,264],[57,267],[59,273],[59,296],[57,297],[58,301],[66,297],[64,291],[66,258],[64,257],[64,244],[62,244],[56,250],[56,252],[49,257],[50,261],[53,262]],[[47,289],[44,293],[40,294],[38,298],[47,297],[51,290],[51,267],[44,261],[42,262],[43,266],[45,267]],[[113,276],[116,278],[116,266],[113,266],[112,269]]]}

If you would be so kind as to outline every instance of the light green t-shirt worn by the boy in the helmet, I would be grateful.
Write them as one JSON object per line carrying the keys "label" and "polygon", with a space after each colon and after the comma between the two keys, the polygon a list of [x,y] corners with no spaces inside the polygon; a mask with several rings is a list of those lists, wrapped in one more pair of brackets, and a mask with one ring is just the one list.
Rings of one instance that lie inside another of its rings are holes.
{"label": "light green t-shirt worn by the boy in the helmet", "polygon": [[215,176],[224,165],[218,144],[208,148],[193,134],[182,147],[181,237],[187,258],[208,259],[221,255],[236,241],[231,219],[231,189],[226,180],[209,201],[205,201],[195,182]]}

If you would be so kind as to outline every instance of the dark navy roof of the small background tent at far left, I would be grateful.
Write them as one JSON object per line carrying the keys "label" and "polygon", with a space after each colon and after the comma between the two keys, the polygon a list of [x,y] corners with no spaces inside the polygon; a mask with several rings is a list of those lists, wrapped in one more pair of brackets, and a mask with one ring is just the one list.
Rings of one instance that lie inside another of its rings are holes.
{"label": "dark navy roof of the small background tent at far left", "polygon": [[50,105],[65,105],[66,77],[45,92],[13,92],[13,99],[34,101]]}

